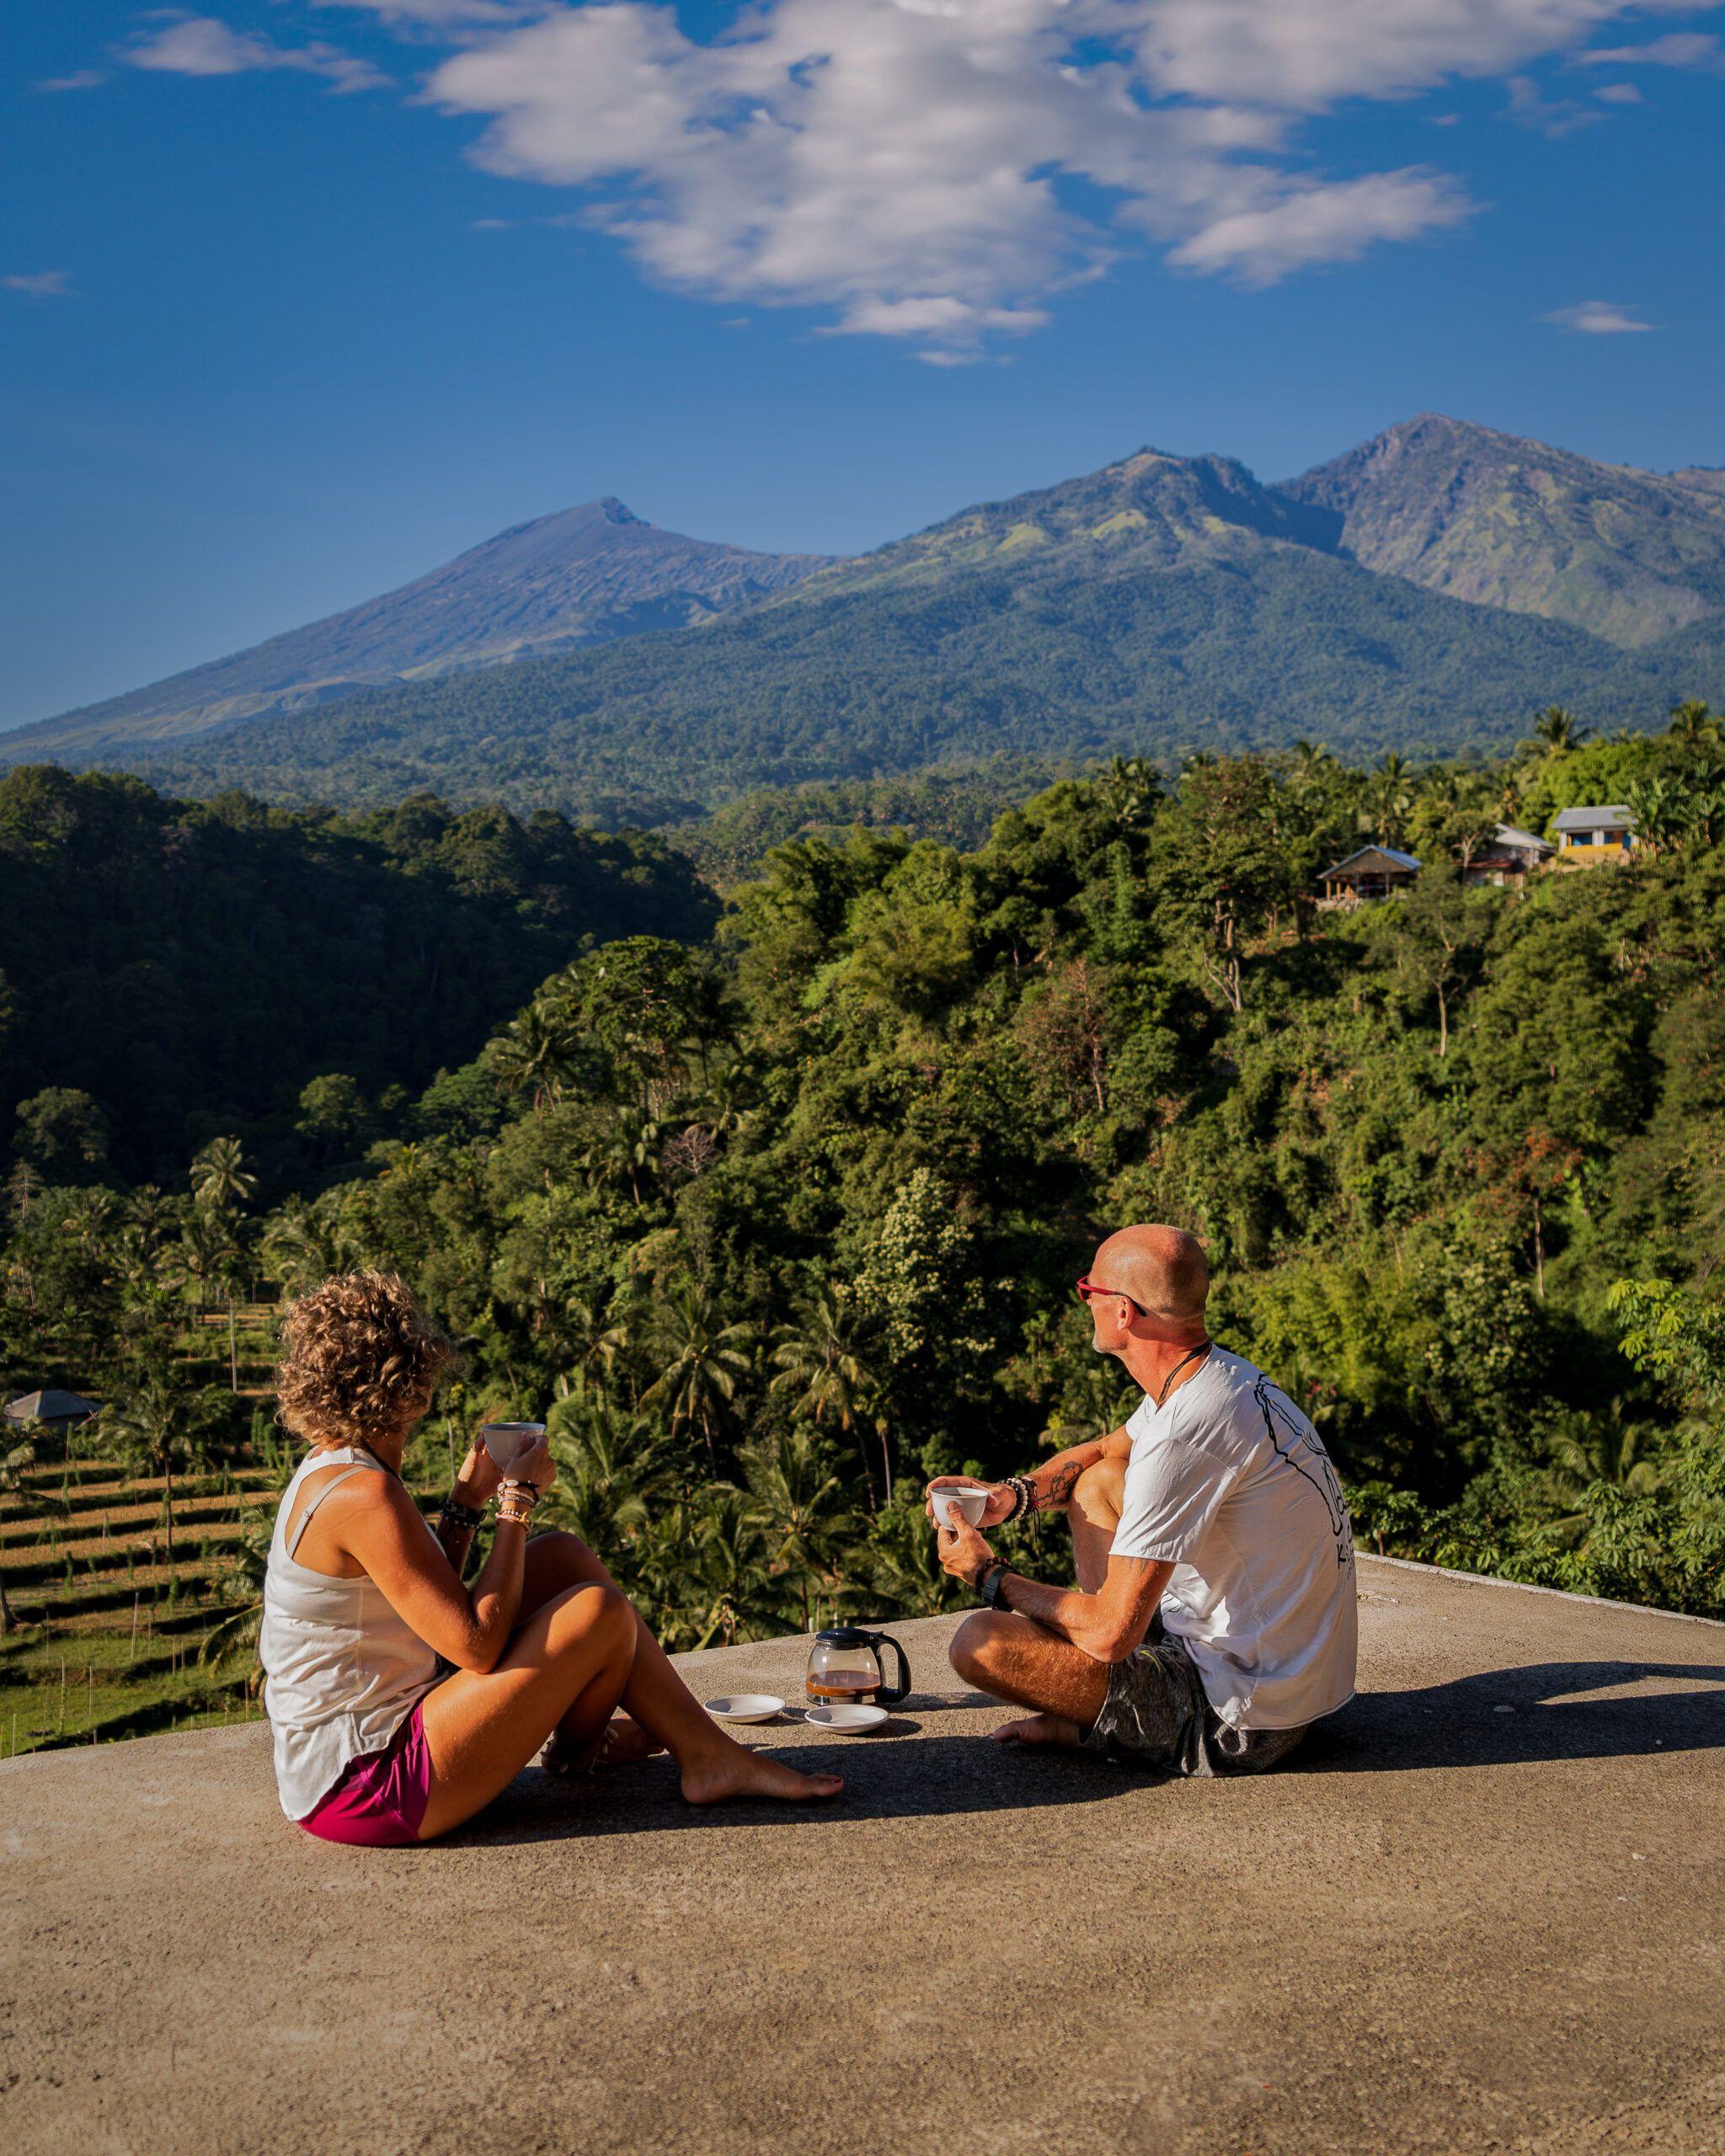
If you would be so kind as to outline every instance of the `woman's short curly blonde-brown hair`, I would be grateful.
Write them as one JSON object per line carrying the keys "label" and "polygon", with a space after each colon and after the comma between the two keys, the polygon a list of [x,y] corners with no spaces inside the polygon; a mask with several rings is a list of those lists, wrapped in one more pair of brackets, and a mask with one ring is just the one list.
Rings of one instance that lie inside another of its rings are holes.
{"label": "woman's short curly blonde-brown hair", "polygon": [[453,1354],[399,1274],[343,1272],[287,1307],[280,1419],[308,1445],[405,1438]]}

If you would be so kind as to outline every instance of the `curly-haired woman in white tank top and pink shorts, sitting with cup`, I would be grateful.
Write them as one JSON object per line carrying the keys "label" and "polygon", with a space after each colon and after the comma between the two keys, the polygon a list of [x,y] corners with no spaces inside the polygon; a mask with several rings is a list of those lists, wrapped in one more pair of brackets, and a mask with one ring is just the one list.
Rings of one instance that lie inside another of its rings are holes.
{"label": "curly-haired woman in white tank top and pink shorts, sitting with cup", "polygon": [[[705,1714],[574,1535],[528,1539],[556,1468],[543,1438],[500,1479],[483,1445],[438,1529],[401,1451],[448,1363],[444,1332],[384,1272],[326,1281],[287,1313],[280,1416],[310,1442],[287,1485],[263,1583],[282,1811],[326,1841],[433,1841],[492,1802],[550,1740],[550,1768],[668,1749],[684,1796],[837,1796]],[[461,1561],[498,1498],[472,1589]],[[612,1725],[612,1710],[630,1720]]]}

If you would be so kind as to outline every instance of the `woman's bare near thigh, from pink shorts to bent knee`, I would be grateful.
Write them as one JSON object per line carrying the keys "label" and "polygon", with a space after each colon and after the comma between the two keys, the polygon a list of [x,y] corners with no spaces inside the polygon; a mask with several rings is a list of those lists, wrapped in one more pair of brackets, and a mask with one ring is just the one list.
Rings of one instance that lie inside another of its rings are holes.
{"label": "woman's bare near thigh, from pink shorts to bent knee", "polygon": [[496,1669],[457,1669],[425,1695],[436,1841],[500,1796],[552,1729],[597,1740],[634,1664],[636,1617],[608,1587],[574,1585],[520,1626]]}

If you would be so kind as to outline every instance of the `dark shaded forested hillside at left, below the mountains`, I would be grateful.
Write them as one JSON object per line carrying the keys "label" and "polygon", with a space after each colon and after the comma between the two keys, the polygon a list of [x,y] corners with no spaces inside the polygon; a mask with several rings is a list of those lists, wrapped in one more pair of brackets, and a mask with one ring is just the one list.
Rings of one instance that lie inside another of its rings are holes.
{"label": "dark shaded forested hillside at left, below the mountains", "polygon": [[0,776],[0,1151],[168,1181],[231,1132],[280,1186],[358,1158],[584,938],[712,918],[634,832],[429,798],[343,821],[26,765]]}

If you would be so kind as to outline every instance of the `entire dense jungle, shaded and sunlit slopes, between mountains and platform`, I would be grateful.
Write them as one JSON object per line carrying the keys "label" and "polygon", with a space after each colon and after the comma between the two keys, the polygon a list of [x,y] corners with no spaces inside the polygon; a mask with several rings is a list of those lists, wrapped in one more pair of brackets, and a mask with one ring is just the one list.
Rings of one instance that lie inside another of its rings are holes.
{"label": "entire dense jungle, shaded and sunlit slopes, between mountains and platform", "polygon": [[[1499,821],[1576,802],[1628,802],[1634,856],[1471,880]],[[673,1645],[923,1613],[929,1473],[1130,1408],[1074,1281],[1160,1218],[1205,1238],[1214,1335],[1313,1416],[1361,1546],[1725,1615],[1719,718],[1550,709],[1490,763],[1115,761],[975,845],[919,832],[916,780],[895,824],[832,808],[735,821],[720,908],[662,841],[556,817],[11,774],[4,1395],[99,1399],[78,1445],[168,1505],[285,1470],[239,1313],[382,1266],[461,1348],[427,1490],[483,1416],[546,1416],[556,1518]],[[1412,888],[1315,903],[1374,841]],[[101,877],[179,912],[97,927]],[[144,1056],[175,970],[179,1063]],[[226,1367],[175,1345],[194,1317]],[[244,1611],[257,1531],[231,1563]]]}

